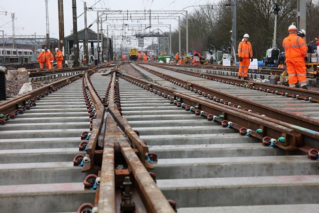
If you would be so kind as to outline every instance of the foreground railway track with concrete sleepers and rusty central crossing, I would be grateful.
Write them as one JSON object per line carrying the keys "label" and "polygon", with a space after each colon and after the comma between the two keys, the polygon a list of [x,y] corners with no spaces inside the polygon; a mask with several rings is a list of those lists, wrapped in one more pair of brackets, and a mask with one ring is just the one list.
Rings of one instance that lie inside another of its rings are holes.
{"label": "foreground railway track with concrete sleepers and rusty central crossing", "polygon": [[[318,209],[318,163],[308,158],[318,157],[316,129],[260,115],[249,101],[237,99],[242,109],[217,103],[222,93],[210,100],[194,82],[178,88],[181,76],[172,83],[168,73],[136,69],[150,81],[117,69],[86,71],[0,104],[4,212],[168,213],[175,204],[185,213]],[[211,86],[227,90],[219,81]],[[46,89],[52,92],[43,95]],[[307,95],[296,91],[294,101]],[[287,100],[290,93],[269,94]],[[303,101],[318,104],[316,96]],[[305,118],[299,123],[318,128]]]}

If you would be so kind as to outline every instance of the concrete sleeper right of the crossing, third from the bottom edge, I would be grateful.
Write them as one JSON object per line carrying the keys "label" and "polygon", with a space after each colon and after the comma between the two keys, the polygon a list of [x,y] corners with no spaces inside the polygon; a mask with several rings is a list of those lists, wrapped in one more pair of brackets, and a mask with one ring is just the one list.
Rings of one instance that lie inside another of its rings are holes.
{"label": "concrete sleeper right of the crossing, third from the bottom edge", "polygon": [[158,179],[316,175],[318,164],[306,155],[186,159],[158,156],[153,172]]}

